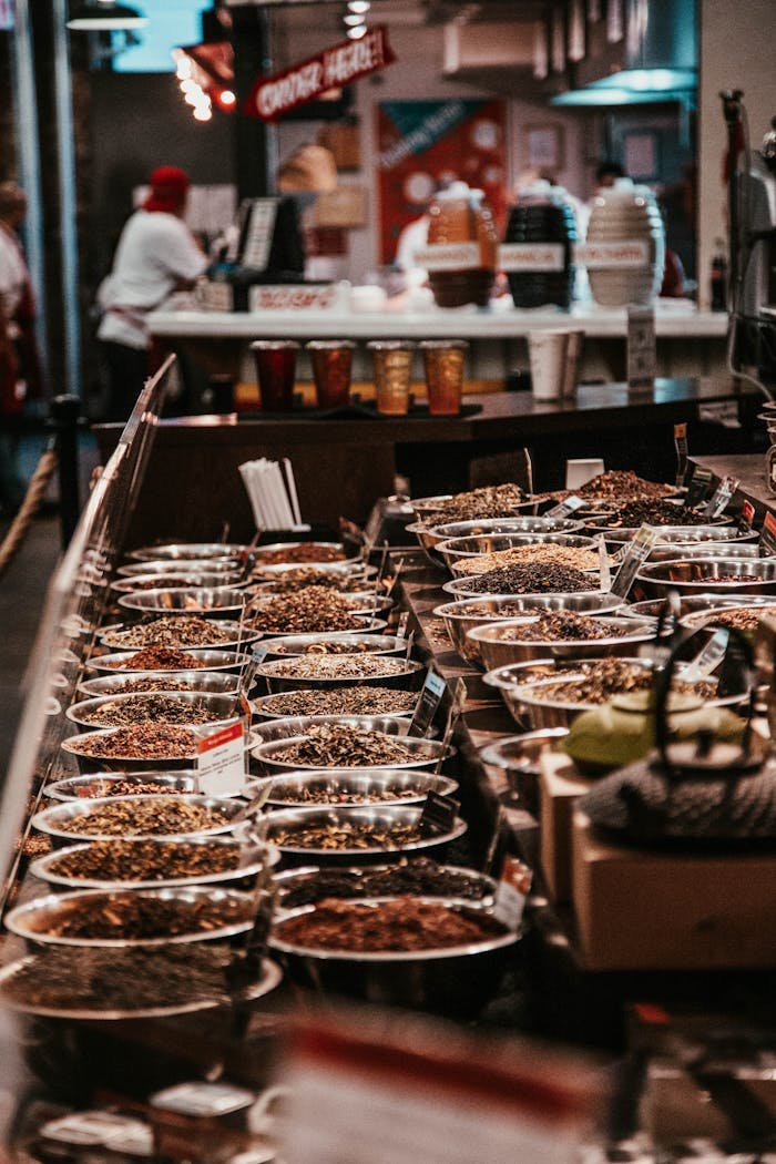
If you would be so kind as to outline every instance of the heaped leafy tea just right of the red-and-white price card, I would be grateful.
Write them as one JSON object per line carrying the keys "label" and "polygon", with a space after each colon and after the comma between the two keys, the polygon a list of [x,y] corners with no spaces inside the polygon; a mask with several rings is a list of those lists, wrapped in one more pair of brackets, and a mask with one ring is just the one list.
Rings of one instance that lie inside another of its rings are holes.
{"label": "heaped leafy tea just right of the red-and-white price card", "polygon": [[370,768],[410,764],[432,754],[427,747],[407,747],[398,736],[348,724],[313,724],[304,739],[278,747],[272,759],[306,768]]}

